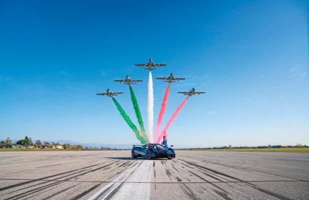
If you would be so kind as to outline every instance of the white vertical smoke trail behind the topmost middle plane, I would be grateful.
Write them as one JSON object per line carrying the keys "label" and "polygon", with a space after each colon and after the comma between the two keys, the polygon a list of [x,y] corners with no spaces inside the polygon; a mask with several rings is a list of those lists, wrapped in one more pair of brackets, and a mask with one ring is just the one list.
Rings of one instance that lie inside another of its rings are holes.
{"label": "white vertical smoke trail behind the topmost middle plane", "polygon": [[149,142],[152,143],[152,131],[153,131],[153,85],[152,85],[152,74],[149,71],[148,78],[148,103],[147,103],[147,128],[148,128],[148,139]]}

